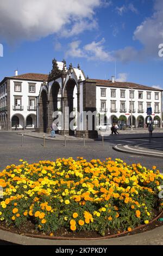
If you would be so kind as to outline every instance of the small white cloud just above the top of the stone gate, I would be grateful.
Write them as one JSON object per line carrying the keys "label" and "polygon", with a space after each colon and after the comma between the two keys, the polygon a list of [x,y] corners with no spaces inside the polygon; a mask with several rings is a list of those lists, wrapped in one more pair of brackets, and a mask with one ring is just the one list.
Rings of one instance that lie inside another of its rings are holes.
{"label": "small white cloud just above the top of the stone gate", "polygon": [[73,41],[68,46],[68,50],[66,51],[66,57],[84,57],[88,60],[111,62],[112,60],[114,60],[114,58],[108,51],[104,49],[104,42],[105,39],[103,38],[101,41],[92,41],[90,44],[87,44],[80,48],[80,41]]}

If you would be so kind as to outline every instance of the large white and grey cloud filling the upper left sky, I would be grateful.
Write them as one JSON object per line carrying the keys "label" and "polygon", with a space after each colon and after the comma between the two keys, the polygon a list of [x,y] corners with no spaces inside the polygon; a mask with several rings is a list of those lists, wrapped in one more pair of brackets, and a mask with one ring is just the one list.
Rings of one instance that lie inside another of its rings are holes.
{"label": "large white and grey cloud filling the upper left sky", "polygon": [[102,4],[102,0],[1,0],[1,38],[35,40],[65,28],[76,34],[77,27],[82,31],[81,24],[95,26],[95,8]]}

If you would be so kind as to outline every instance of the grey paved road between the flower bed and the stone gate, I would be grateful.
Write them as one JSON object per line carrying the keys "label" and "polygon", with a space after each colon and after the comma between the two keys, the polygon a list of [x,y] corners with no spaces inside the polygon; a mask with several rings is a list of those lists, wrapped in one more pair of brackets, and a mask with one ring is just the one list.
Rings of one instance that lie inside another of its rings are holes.
{"label": "grey paved road between the flower bed and the stone gate", "polygon": [[116,144],[120,143],[142,143],[146,141],[138,141],[137,139],[122,139],[121,136],[112,136],[111,139],[104,141],[86,140],[85,147],[83,141],[71,140],[67,141],[64,146],[64,138],[62,141],[46,140],[46,147],[43,148],[43,139],[24,136],[24,146],[21,148],[21,136],[12,132],[0,132],[0,170],[8,164],[18,164],[19,159],[27,160],[29,163],[39,160],[55,160],[58,157],[74,157],[83,156],[87,160],[99,158],[104,160],[106,157],[116,157],[123,159],[127,163],[140,162],[143,166],[151,168],[153,165],[163,172],[163,160],[156,159],[152,156],[139,156],[133,154],[125,154],[112,149]]}

